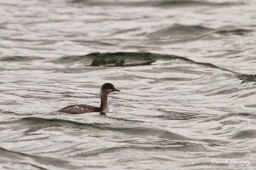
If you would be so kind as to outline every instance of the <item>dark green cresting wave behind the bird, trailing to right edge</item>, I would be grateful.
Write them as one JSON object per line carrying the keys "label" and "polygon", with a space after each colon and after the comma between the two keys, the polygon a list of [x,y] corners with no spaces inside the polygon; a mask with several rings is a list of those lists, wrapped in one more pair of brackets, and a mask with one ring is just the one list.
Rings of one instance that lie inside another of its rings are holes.
{"label": "dark green cresting wave behind the bird, trailing to right edge", "polygon": [[127,67],[127,66],[146,66],[151,65],[157,60],[181,60],[184,62],[189,62],[197,64],[200,66],[220,69],[224,72],[229,72],[234,75],[234,77],[239,78],[242,83],[245,82],[256,82],[256,74],[242,74],[238,72],[231,71],[226,68],[221,68],[215,66],[211,63],[202,63],[192,61],[189,58],[170,55],[170,54],[157,54],[157,53],[136,53],[136,52],[114,52],[114,53],[90,53],[83,56],[66,56],[57,58],[48,62],[53,62],[56,64],[74,64],[80,63],[84,66],[106,66],[106,67]]}

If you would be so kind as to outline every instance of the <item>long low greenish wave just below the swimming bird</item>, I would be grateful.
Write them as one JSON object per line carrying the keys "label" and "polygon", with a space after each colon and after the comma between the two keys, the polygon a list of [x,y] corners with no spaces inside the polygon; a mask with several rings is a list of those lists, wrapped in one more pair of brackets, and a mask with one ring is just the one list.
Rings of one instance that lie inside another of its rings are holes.
{"label": "long low greenish wave just below the swimming bird", "polygon": [[[15,123],[17,121],[13,121]],[[164,129],[158,128],[150,128],[143,126],[119,126],[114,124],[107,123],[82,123],[76,121],[69,121],[66,119],[57,119],[57,118],[40,118],[40,117],[25,117],[18,120],[18,122],[26,124],[30,127],[26,133],[36,132],[40,129],[44,129],[47,127],[64,127],[71,129],[94,129],[97,131],[111,131],[118,132],[127,135],[133,136],[157,136],[158,138],[175,140],[175,141],[195,141],[194,139],[190,139],[184,136],[181,136],[176,133],[168,132]],[[8,122],[9,124],[11,122]],[[31,126],[30,126],[31,125]]]}

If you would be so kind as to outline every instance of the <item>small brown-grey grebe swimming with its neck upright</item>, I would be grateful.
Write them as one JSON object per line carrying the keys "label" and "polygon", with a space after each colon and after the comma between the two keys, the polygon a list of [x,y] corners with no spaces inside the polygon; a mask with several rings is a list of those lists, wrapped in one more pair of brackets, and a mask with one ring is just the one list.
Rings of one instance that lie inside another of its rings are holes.
{"label": "small brown-grey grebe swimming with its neck upright", "polygon": [[100,107],[94,107],[87,104],[73,104],[59,109],[59,112],[69,113],[69,114],[81,114],[89,112],[100,112],[107,113],[108,109],[108,94],[111,92],[120,92],[111,83],[105,83],[100,88]]}

